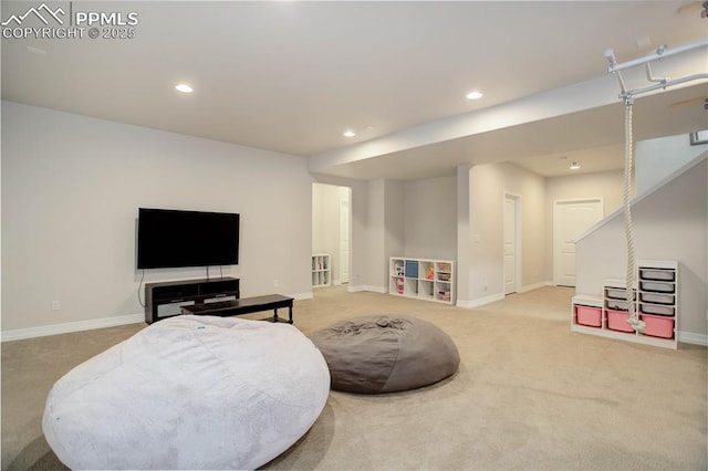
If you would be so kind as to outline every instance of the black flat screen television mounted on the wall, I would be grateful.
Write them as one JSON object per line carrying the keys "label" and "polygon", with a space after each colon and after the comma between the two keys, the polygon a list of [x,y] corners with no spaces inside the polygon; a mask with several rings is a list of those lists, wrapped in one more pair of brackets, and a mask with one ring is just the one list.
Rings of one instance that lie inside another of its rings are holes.
{"label": "black flat screen television mounted on the wall", "polygon": [[137,268],[238,264],[239,223],[230,212],[139,208]]}

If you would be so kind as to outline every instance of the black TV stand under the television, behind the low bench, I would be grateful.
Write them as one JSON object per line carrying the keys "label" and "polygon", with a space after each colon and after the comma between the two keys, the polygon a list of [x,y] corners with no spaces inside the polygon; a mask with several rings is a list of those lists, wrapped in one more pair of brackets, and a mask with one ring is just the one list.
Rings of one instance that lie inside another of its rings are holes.
{"label": "black TV stand under the television, behind the low bench", "polygon": [[183,306],[238,300],[239,279],[217,278],[145,284],[145,322],[181,315]]}

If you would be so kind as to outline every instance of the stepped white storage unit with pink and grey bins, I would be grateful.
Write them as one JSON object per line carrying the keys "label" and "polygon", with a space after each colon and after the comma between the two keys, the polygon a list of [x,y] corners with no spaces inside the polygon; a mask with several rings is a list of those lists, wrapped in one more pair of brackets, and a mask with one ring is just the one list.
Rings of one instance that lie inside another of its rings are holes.
{"label": "stepped white storage unit with pink and grey bins", "polygon": [[641,344],[677,348],[678,262],[639,260],[637,289],[631,301],[646,328],[635,332],[629,324],[624,280],[605,280],[602,296],[573,296],[571,329],[584,334]]}

